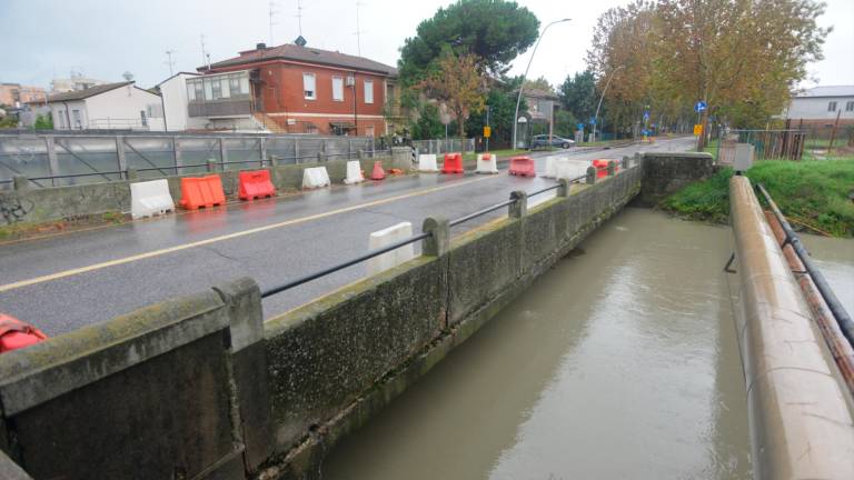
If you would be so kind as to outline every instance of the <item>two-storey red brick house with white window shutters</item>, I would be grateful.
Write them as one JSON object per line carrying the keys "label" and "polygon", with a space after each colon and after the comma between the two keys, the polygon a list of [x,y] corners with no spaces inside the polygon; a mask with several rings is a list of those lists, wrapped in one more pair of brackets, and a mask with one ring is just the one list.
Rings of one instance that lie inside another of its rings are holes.
{"label": "two-storey red brick house with white window shutters", "polygon": [[271,130],[373,137],[394,128],[385,113],[387,101],[397,102],[397,70],[374,60],[297,44],[258,43],[198,71],[199,81],[248,72],[251,113]]}

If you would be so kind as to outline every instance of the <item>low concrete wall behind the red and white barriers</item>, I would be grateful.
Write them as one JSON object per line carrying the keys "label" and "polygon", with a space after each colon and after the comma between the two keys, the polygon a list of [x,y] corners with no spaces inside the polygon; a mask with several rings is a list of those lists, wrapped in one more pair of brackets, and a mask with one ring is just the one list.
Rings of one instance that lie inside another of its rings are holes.
{"label": "low concrete wall behind the red and white barriers", "polygon": [[[409,149],[395,151],[393,156],[360,160],[361,168],[370,172],[374,162],[381,161],[383,167],[408,170],[411,167]],[[269,161],[267,162],[269,164]],[[347,160],[324,160],[296,164],[274,164],[266,167],[278,191],[294,191],[302,188],[302,171],[312,167],[326,167],[332,183],[344,183],[347,177]],[[169,170],[163,168],[163,170]],[[169,191],[176,204],[181,198],[181,178],[219,174],[227,200],[237,200],[239,170],[221,170],[221,164],[211,162],[208,172],[195,172],[180,176],[162,177],[169,182]],[[132,170],[128,177],[137,173]],[[39,223],[46,221],[75,221],[95,218],[103,213],[130,212],[130,183],[145,181],[113,180],[101,183],[85,183],[68,187],[39,188],[23,178],[16,179],[16,189],[0,191],[0,227],[19,222]],[[49,180],[42,180],[42,183]]]}

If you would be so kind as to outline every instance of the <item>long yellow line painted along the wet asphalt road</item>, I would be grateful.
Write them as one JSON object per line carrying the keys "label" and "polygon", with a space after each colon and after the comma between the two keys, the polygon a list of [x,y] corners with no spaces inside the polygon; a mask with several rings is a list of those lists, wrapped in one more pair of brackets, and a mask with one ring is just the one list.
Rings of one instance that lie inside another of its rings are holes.
{"label": "long yellow line painted along the wet asphalt road", "polygon": [[317,214],[312,214],[312,216],[308,216],[308,217],[300,217],[300,218],[297,218],[297,219],[286,220],[286,221],[279,222],[279,223],[270,223],[270,224],[264,226],[264,227],[256,227],[256,228],[248,229],[248,230],[241,230],[239,232],[228,233],[228,234],[224,234],[224,236],[219,236],[219,237],[212,237],[212,238],[209,238],[209,239],[199,240],[199,241],[195,241],[195,242],[190,242],[190,243],[183,243],[183,244],[179,244],[179,246],[175,246],[175,247],[169,247],[169,248],[165,248],[165,249],[160,249],[160,250],[152,250],[152,251],[149,251],[149,252],[139,253],[139,254],[135,254],[135,256],[130,256],[130,257],[123,257],[123,258],[116,259],[116,260],[109,260],[109,261],[101,262],[101,263],[93,263],[93,264],[90,264],[90,266],[87,266],[87,267],[80,267],[80,268],[76,268],[76,269],[70,269],[70,270],[64,270],[64,271],[60,271],[60,272],[56,272],[56,273],[46,274],[46,276],[42,276],[42,277],[36,277],[36,278],[29,279],[29,280],[21,280],[21,281],[17,281],[17,282],[13,282],[13,283],[7,283],[4,286],[0,286],[0,292],[4,292],[4,291],[9,291],[9,290],[14,290],[14,289],[19,289],[21,287],[28,287],[28,286],[36,284],[36,283],[43,283],[43,282],[48,282],[48,281],[52,281],[52,280],[58,280],[58,279],[61,279],[61,278],[71,277],[71,276],[76,276],[76,274],[80,274],[80,273],[86,273],[86,272],[90,272],[90,271],[95,271],[95,270],[101,270],[101,269],[105,269],[105,268],[108,268],[108,267],[115,267],[115,266],[120,266],[120,264],[125,264],[125,263],[135,262],[135,261],[138,261],[138,260],[145,260],[145,259],[149,259],[149,258],[153,258],[153,257],[160,257],[160,256],[163,256],[163,254],[167,254],[167,253],[172,253],[172,252],[177,252],[177,251],[181,251],[181,250],[187,250],[187,249],[191,249],[191,248],[195,248],[195,247],[202,247],[202,246],[206,246],[206,244],[216,243],[216,242],[220,242],[220,241],[225,241],[225,240],[231,240],[231,239],[239,238],[239,237],[246,237],[246,236],[259,233],[259,232],[267,231],[267,230],[274,230],[274,229],[278,229],[278,228],[282,228],[282,227],[289,227],[289,226],[294,226],[294,224],[298,224],[298,223],[305,223],[305,222],[308,222],[308,221],[311,221],[311,220],[317,220],[317,219],[321,219],[321,218],[326,218],[326,217],[331,217],[331,216],[338,214],[338,213],[346,213],[346,212],[354,211],[354,210],[359,210],[359,209],[369,208],[369,207],[376,207],[376,206],[380,206],[380,204],[384,204],[384,203],[390,203],[390,202],[397,201],[397,200],[403,200],[403,199],[413,198],[413,197],[419,197],[419,196],[424,196],[424,194],[428,194],[428,193],[435,193],[437,191],[447,190],[447,189],[457,188],[457,187],[463,187],[463,186],[467,186],[467,184],[470,184],[470,183],[474,183],[474,182],[478,182],[478,181],[483,181],[483,180],[487,180],[487,179],[491,179],[491,178],[498,178],[498,177],[499,176],[486,176],[486,177],[481,177],[481,178],[474,179],[474,180],[466,180],[466,181],[463,181],[463,182],[454,182],[454,183],[450,183],[450,184],[447,184],[447,186],[434,187],[434,188],[429,188],[429,189],[425,189],[425,190],[414,191],[411,193],[405,193],[405,194],[400,194],[400,196],[396,196],[396,197],[389,197],[389,198],[385,198],[385,199],[379,199],[379,200],[375,200],[375,201],[371,201],[371,202],[360,203],[360,204],[356,204],[356,206],[351,206],[351,207],[346,207],[346,208],[342,208],[342,209],[332,210],[332,211],[328,211],[328,212],[324,212],[324,213],[317,213]]}

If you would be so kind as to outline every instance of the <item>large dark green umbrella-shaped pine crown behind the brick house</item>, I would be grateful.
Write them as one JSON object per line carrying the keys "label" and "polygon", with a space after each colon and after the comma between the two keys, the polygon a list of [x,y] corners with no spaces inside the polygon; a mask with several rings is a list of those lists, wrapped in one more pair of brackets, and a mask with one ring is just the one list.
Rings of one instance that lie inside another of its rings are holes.
{"label": "large dark green umbrella-shaped pine crown behind the brick house", "polygon": [[539,20],[527,8],[504,0],[458,0],[423,21],[400,49],[404,86],[415,84],[449,48],[473,54],[481,74],[498,76],[537,40]]}

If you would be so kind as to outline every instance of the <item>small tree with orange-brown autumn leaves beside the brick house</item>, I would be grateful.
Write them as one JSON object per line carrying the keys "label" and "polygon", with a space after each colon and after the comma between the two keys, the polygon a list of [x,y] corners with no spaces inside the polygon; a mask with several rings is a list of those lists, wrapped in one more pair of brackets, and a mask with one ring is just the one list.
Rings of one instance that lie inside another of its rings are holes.
{"label": "small tree with orange-brown autumn leaves beside the brick house", "polygon": [[416,88],[450,109],[457,120],[458,133],[463,137],[469,113],[480,112],[486,107],[484,81],[477,70],[477,58],[473,54],[457,57],[446,51],[436,62],[436,67]]}

